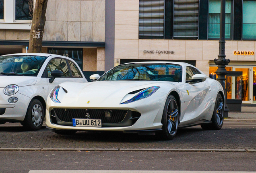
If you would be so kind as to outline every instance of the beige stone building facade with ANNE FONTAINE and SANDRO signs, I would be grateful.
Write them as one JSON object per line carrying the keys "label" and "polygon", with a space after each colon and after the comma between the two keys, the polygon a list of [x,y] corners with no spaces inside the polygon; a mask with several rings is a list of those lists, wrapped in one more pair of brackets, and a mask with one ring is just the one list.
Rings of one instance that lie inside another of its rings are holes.
{"label": "beige stone building facade with ANNE FONTAINE and SANDRO signs", "polygon": [[[255,9],[255,0],[226,1],[227,71],[243,77],[227,80],[227,99],[248,104],[256,104]],[[220,0],[115,0],[114,26],[114,62],[184,61],[217,77]]]}

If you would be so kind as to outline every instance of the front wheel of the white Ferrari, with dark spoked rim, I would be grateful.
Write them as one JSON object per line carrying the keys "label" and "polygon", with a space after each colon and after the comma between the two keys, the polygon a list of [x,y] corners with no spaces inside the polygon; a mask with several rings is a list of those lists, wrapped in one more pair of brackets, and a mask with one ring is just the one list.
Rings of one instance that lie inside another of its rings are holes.
{"label": "front wheel of the white Ferrari, with dark spoked rim", "polygon": [[165,107],[163,109],[163,116],[161,123],[162,131],[159,136],[163,140],[171,140],[175,137],[178,131],[180,111],[177,101],[173,95],[169,95],[165,102]]}

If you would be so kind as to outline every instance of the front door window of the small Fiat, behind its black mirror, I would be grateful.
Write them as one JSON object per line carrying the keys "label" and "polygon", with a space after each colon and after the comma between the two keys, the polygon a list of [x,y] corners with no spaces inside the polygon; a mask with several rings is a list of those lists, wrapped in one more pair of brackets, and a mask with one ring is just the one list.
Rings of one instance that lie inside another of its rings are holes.
{"label": "front door window of the small Fiat, behind its black mirror", "polygon": [[63,76],[70,77],[68,64],[66,63],[65,59],[61,59],[61,58],[52,59],[46,67],[46,72],[48,77],[52,77],[51,72],[53,70],[60,70],[63,72]]}

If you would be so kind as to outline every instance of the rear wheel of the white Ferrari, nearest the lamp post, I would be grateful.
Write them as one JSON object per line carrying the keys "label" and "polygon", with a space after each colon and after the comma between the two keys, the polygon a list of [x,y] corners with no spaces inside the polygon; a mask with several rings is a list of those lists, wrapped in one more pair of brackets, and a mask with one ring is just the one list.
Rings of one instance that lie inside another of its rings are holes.
{"label": "rear wheel of the white Ferrari, nearest the lamp post", "polygon": [[204,130],[220,130],[224,121],[224,101],[219,93],[215,101],[215,107],[213,110],[213,117],[211,124],[202,124],[201,127]]}

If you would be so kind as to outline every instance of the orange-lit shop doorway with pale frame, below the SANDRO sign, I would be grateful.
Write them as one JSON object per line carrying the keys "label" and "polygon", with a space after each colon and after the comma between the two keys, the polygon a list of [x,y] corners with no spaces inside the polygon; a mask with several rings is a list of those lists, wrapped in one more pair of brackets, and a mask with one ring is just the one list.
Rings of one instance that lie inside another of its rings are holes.
{"label": "orange-lit shop doorway with pale frame, below the SANDRO sign", "polygon": [[242,101],[243,103],[252,103],[252,98],[250,97],[252,93],[252,87],[251,86],[251,74],[252,67],[235,67],[235,71],[241,71],[243,72],[243,81],[242,81]]}

